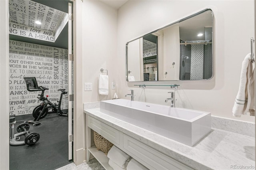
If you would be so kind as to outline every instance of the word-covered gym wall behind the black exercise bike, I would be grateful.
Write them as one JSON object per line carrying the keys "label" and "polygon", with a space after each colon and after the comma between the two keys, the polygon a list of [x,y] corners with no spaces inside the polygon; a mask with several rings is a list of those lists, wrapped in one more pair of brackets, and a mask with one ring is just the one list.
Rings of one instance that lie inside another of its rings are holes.
{"label": "word-covered gym wall behind the black exercise bike", "polygon": [[[57,103],[58,89],[68,89],[68,50],[33,43],[10,40],[9,90],[10,115],[32,114],[41,101],[41,91],[27,91],[24,77],[36,77],[38,86],[49,90],[48,100]],[[62,97],[62,109],[68,108],[68,96]]]}

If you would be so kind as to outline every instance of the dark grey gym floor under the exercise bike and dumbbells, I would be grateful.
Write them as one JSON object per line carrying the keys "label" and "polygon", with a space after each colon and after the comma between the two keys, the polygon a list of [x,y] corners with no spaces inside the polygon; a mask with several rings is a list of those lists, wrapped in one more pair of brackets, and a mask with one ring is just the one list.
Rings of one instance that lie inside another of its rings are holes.
{"label": "dark grey gym floor under the exercise bike and dumbbells", "polygon": [[[32,115],[28,116],[27,120],[33,120]],[[24,119],[16,116],[15,133]],[[54,170],[72,162],[68,160],[68,117],[48,114],[40,122],[37,127],[29,124],[30,132],[40,134],[36,144],[10,145],[10,170]],[[24,140],[24,135],[20,140]]]}

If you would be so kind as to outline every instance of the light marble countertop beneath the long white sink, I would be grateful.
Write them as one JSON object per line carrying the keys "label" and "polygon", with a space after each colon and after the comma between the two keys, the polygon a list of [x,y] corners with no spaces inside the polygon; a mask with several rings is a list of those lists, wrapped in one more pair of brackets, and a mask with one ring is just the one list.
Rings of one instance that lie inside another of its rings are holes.
{"label": "light marble countertop beneath the long white sink", "polygon": [[84,113],[197,170],[255,169],[255,138],[251,136],[212,128],[191,147],[101,113],[100,108]]}

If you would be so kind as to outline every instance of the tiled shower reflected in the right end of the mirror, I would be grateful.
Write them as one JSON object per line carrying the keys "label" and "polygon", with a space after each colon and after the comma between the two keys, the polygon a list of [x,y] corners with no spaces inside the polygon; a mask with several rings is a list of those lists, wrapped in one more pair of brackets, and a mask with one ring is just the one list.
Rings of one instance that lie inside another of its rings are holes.
{"label": "tiled shower reflected in the right end of the mirror", "polygon": [[180,80],[212,77],[212,27],[205,26],[201,38],[180,40]]}

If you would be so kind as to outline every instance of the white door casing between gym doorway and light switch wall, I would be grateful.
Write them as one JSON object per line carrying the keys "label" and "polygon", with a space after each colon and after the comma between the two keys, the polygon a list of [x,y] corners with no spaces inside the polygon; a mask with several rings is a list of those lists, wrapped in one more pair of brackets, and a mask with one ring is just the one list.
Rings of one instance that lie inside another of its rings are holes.
{"label": "white door casing between gym doorway and light switch wall", "polygon": [[82,49],[83,49],[83,3],[73,1],[73,52],[74,52],[74,126],[73,126],[73,161],[76,165],[86,161],[85,116],[83,107]]}

